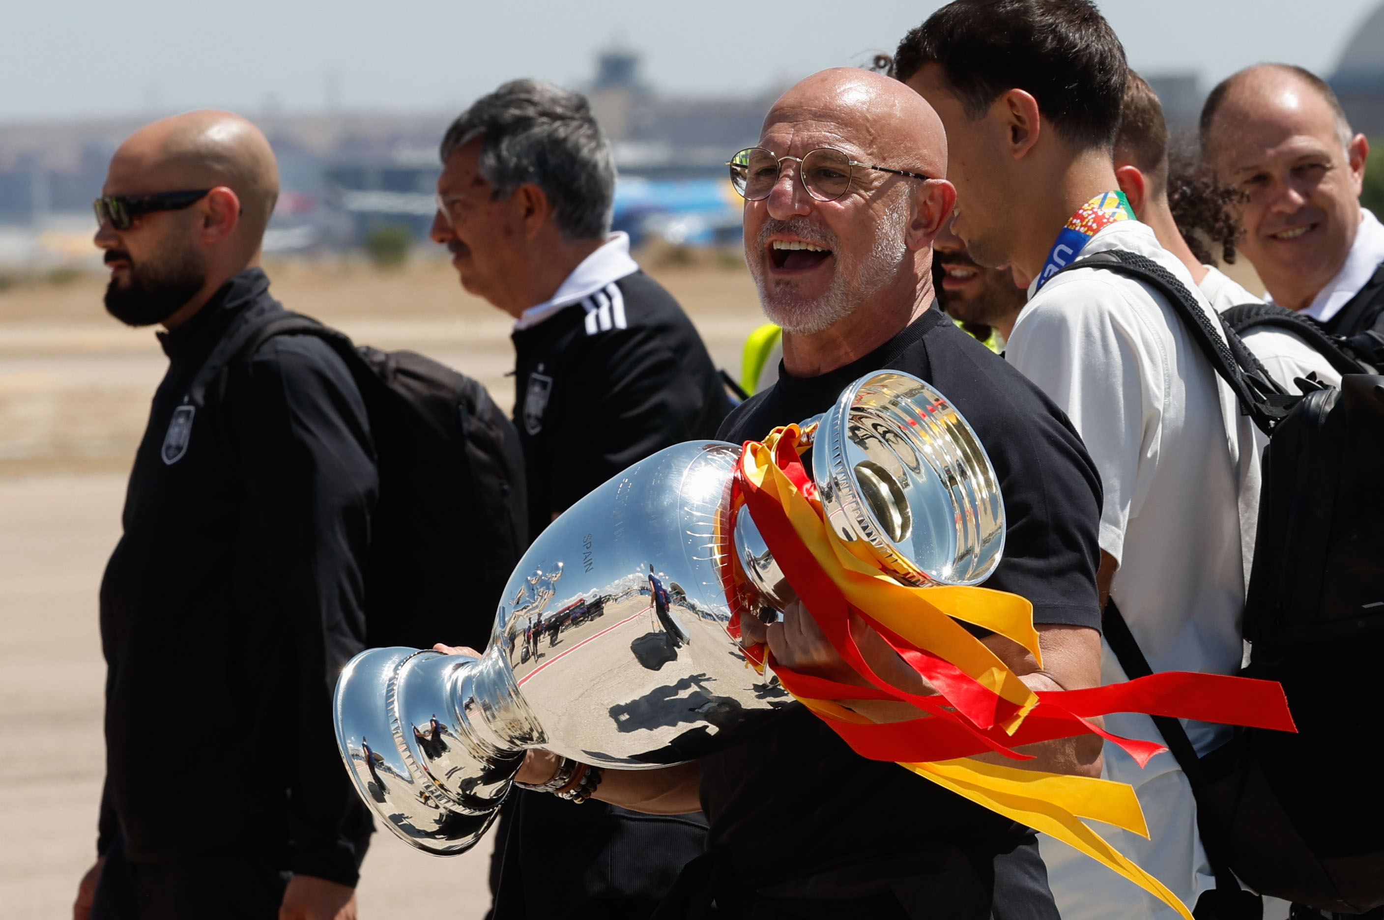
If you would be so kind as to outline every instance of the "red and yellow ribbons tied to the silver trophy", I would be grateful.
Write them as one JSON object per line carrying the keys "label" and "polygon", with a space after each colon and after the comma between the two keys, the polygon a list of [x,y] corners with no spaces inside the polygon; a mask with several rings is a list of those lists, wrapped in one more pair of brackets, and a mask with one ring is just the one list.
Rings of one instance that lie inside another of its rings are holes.
{"label": "red and yellow ribbons tied to the silver trophy", "polygon": [[[767,663],[789,693],[862,757],[897,761],[963,798],[1050,834],[1192,920],[1175,894],[1081,820],[1100,820],[1147,837],[1131,786],[999,766],[973,755],[995,751],[1016,761],[1031,760],[1014,748],[1095,733],[1120,744],[1143,765],[1165,748],[1110,735],[1091,718],[1147,712],[1291,732],[1295,728],[1283,689],[1269,681],[1189,672],[1154,674],[1085,690],[1030,689],[960,623],[1006,636],[1041,663],[1032,606],[1002,591],[912,588],[884,574],[866,545],[844,542],[826,526],[817,488],[803,468],[800,436],[800,429],[790,425],[775,429],[764,443],[745,444],[736,473],[738,501],[753,515],[775,562],[823,635],[869,686],[797,674],[776,665],[763,647],[750,649],[750,659]],[[937,693],[907,693],[875,674],[851,636],[851,614],[879,632]],[[905,722],[876,724],[837,700],[895,700],[923,714]]]}

